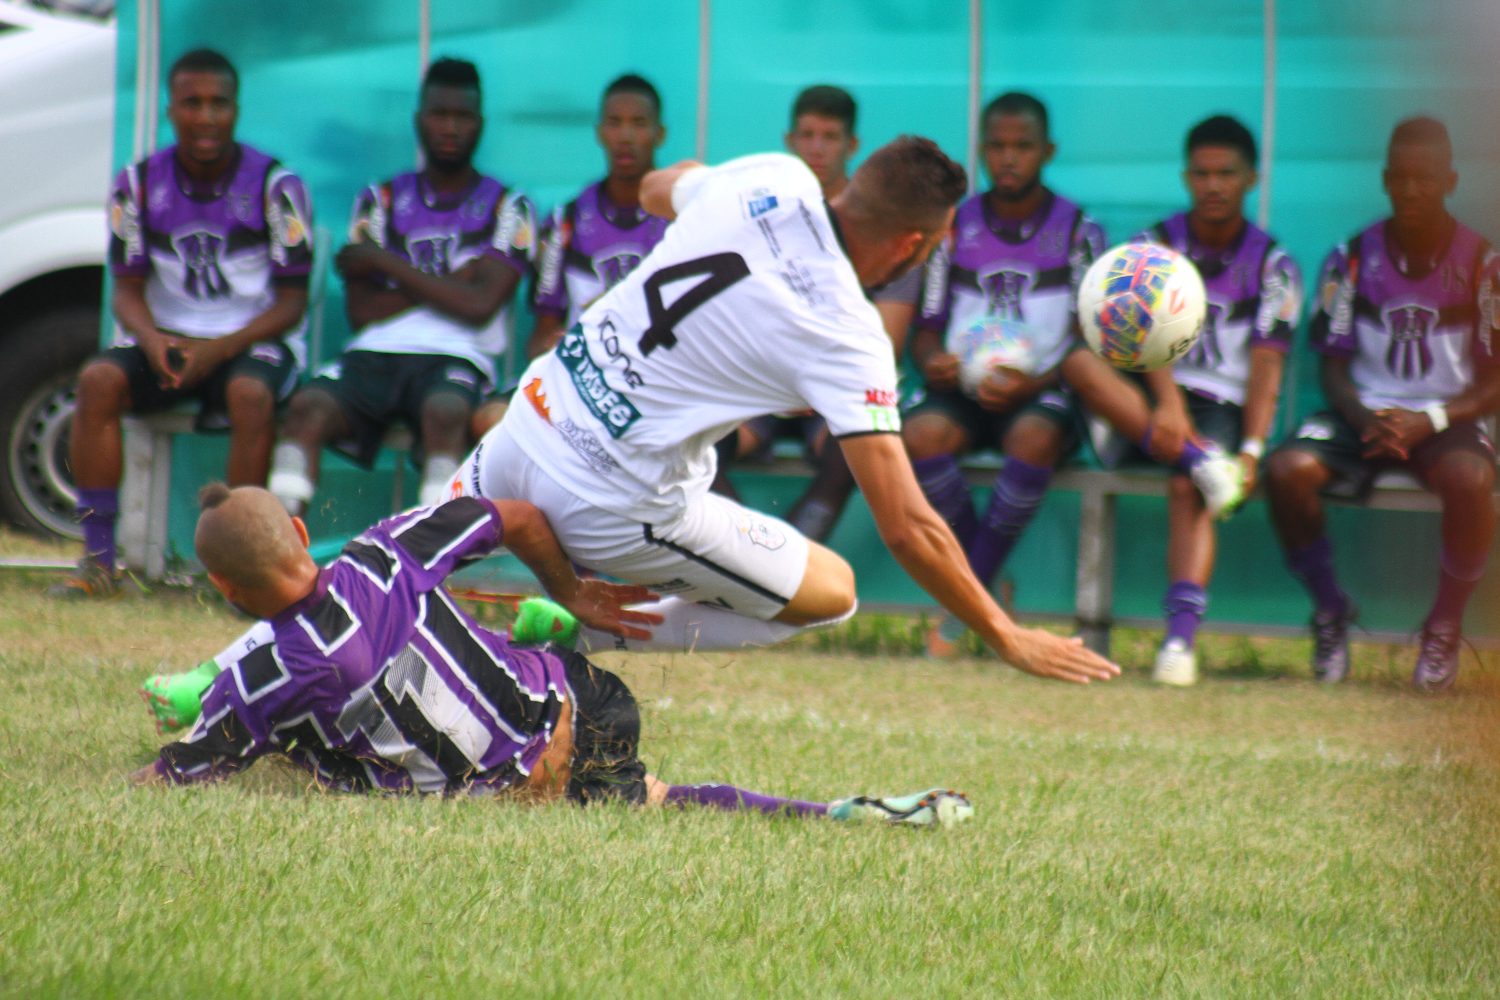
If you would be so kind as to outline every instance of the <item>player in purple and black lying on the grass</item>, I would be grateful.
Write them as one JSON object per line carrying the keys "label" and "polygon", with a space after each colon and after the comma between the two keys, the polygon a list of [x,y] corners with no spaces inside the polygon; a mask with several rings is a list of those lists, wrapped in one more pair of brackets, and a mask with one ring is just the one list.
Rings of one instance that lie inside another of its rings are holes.
{"label": "player in purple and black lying on the grass", "polygon": [[621,610],[640,586],[579,580],[530,504],[460,498],[375,525],[320,570],[308,529],[258,487],[200,495],[194,547],[208,579],[262,621],[222,657],[202,712],[136,771],[136,784],[228,778],[282,753],[339,790],[520,795],[576,802],[700,802],[765,813],[968,819],[942,790],[830,804],[730,786],[668,786],[636,756],[640,715],[624,682],[572,649],[520,649],[444,591],[456,567],[504,543],[592,628],[633,637],[656,616]]}

